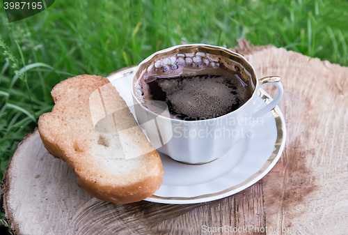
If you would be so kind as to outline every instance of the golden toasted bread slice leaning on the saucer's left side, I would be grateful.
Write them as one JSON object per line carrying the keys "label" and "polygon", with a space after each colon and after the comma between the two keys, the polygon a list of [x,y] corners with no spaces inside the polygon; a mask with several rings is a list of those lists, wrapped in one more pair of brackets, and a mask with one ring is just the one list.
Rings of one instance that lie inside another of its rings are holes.
{"label": "golden toasted bread slice leaning on the saucer's left side", "polygon": [[39,119],[40,137],[49,153],[74,170],[79,187],[120,204],[159,189],[161,159],[108,79],[72,77],[54,86],[52,97],[52,112]]}

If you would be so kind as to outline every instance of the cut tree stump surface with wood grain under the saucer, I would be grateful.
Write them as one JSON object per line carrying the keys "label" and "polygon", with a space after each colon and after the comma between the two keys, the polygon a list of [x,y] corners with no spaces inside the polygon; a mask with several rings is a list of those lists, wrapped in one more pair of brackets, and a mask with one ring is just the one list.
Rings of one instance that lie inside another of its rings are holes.
{"label": "cut tree stump surface with wood grain under the saucer", "polygon": [[15,234],[347,234],[348,68],[245,40],[235,50],[259,78],[279,75],[284,86],[287,142],[262,180],[214,202],[111,204],[79,188],[35,131],[19,144],[1,188]]}

